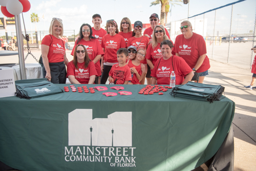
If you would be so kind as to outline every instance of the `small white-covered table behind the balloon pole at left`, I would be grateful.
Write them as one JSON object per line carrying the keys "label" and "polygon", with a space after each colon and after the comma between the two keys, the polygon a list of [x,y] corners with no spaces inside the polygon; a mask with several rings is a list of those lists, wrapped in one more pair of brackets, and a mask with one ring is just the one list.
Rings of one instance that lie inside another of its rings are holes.
{"label": "small white-covered table behind the balloon pole at left", "polygon": [[[17,80],[20,80],[19,65],[12,67],[16,72]],[[25,63],[27,79],[42,78],[42,67],[39,63]]]}

